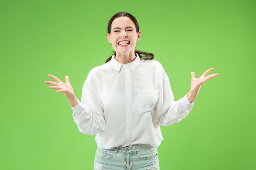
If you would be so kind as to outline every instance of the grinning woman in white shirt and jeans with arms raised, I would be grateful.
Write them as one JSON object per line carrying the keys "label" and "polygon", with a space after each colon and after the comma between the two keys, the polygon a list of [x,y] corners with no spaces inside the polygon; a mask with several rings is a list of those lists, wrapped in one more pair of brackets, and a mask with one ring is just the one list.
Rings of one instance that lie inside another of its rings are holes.
{"label": "grinning woman in white shirt and jeans with arms raised", "polygon": [[162,65],[152,60],[152,53],[135,51],[141,31],[132,15],[115,14],[108,23],[107,37],[115,54],[90,71],[81,102],[67,76],[64,83],[49,75],[56,82],[45,83],[66,95],[79,130],[96,135],[94,170],[159,170],[160,125],[170,126],[186,117],[202,84],[218,74],[208,75],[211,68],[195,78],[192,72],[191,90],[173,101]]}

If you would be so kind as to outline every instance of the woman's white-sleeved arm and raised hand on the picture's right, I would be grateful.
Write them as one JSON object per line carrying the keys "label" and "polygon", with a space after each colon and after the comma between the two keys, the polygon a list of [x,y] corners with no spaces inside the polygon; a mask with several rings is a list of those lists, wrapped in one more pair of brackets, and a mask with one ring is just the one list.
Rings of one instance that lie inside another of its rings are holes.
{"label": "woman's white-sleeved arm and raised hand on the picture's right", "polygon": [[211,71],[213,71],[213,68],[205,71],[199,78],[195,78],[195,73],[192,72],[191,90],[178,101],[173,100],[173,92],[171,91],[168,78],[164,79],[163,92],[159,95],[159,103],[156,109],[158,115],[156,124],[170,126],[184,119],[191,111],[194,104],[193,101],[197,97],[202,84],[219,75],[212,74],[207,76]]}

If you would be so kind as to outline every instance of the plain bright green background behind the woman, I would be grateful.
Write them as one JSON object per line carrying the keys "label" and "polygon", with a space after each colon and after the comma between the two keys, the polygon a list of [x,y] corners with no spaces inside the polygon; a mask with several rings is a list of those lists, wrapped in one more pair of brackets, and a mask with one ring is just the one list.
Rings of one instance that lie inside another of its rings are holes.
{"label": "plain bright green background behind the woman", "polygon": [[188,117],[162,127],[161,170],[255,170],[255,0],[1,0],[0,169],[93,168],[94,136],[44,81],[69,75],[80,99],[90,69],[112,54],[107,24],[119,11],[137,18],[137,49],[162,63],[176,100],[191,71],[220,74]]}

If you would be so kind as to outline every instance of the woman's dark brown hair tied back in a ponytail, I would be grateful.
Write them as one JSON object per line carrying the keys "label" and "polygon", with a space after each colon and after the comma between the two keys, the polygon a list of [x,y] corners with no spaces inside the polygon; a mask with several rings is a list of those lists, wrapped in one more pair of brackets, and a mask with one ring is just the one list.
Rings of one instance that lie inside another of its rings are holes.
{"label": "woman's dark brown hair tied back in a ponytail", "polygon": [[[115,20],[116,18],[119,18],[119,17],[123,17],[123,16],[129,17],[132,20],[132,22],[135,24],[136,32],[137,33],[139,32],[139,24],[138,24],[136,18],[134,16],[132,16],[130,13],[119,12],[119,13],[116,13],[114,16],[112,16],[112,18],[110,18],[110,20],[108,22],[108,33],[109,34],[111,32],[111,25],[112,25],[113,20]],[[135,50],[135,55],[136,55],[136,53],[143,60],[152,60],[154,58],[153,53]],[[117,53],[114,52],[114,55],[117,55]],[[112,57],[112,55],[106,60],[106,63],[111,60],[111,57]]]}

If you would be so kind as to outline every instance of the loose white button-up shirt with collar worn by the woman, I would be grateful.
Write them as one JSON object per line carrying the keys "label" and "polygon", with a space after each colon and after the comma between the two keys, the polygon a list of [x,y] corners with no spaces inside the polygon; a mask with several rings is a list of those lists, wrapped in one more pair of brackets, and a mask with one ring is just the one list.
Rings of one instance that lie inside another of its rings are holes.
{"label": "loose white button-up shirt with collar worn by the woman", "polygon": [[121,64],[110,62],[93,68],[83,85],[81,102],[73,109],[80,132],[96,135],[97,146],[150,144],[163,140],[160,125],[178,123],[192,109],[187,95],[173,101],[170,82],[155,60]]}

